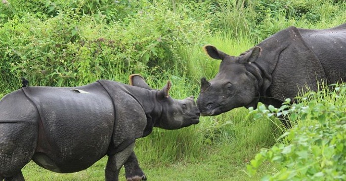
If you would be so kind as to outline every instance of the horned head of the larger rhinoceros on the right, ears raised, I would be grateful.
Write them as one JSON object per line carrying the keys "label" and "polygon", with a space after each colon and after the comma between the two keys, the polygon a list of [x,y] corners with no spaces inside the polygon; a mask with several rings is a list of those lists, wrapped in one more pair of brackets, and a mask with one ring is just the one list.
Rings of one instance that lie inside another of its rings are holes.
{"label": "horned head of the larger rhinoceros on the right, ears raised", "polygon": [[201,80],[201,92],[197,106],[202,115],[218,115],[238,107],[257,107],[258,80],[248,71],[260,52],[253,48],[239,57],[229,56],[214,46],[204,46],[205,52],[213,59],[222,60],[215,78]]}

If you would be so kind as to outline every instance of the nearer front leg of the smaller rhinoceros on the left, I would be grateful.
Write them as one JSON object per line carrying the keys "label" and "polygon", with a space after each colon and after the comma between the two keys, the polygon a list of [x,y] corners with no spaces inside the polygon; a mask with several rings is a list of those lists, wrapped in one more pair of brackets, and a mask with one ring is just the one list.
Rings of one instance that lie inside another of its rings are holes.
{"label": "nearer front leg of the smaller rhinoceros on the left", "polygon": [[134,143],[126,147],[124,150],[108,156],[105,176],[106,181],[119,181],[119,172],[125,162],[133,152]]}

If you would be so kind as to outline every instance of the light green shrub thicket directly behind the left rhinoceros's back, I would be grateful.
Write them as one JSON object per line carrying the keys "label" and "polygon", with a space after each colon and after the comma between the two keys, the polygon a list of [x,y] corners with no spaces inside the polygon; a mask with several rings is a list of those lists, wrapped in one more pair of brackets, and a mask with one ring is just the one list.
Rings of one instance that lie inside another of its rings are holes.
{"label": "light green shrub thicket directly behind the left rhinoceros's back", "polygon": [[81,13],[83,8],[47,19],[15,15],[2,25],[4,81],[27,76],[43,85],[78,85],[112,74],[162,72],[176,66],[183,74],[186,66],[178,59],[178,46],[195,44],[208,33],[201,31],[207,21],[181,18],[149,2],[112,23],[107,16]]}

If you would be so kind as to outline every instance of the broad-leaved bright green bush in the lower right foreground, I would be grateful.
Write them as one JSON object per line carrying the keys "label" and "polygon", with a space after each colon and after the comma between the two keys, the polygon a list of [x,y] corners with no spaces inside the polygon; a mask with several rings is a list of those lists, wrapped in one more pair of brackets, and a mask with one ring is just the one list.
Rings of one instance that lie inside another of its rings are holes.
{"label": "broad-leaved bright green bush in the lower right foreground", "polygon": [[262,149],[248,172],[256,173],[265,162],[276,163],[279,169],[262,181],[337,181],[346,179],[346,84],[335,89],[311,92],[301,103],[280,109],[256,110],[261,115],[284,114],[299,121],[281,136],[281,141]]}

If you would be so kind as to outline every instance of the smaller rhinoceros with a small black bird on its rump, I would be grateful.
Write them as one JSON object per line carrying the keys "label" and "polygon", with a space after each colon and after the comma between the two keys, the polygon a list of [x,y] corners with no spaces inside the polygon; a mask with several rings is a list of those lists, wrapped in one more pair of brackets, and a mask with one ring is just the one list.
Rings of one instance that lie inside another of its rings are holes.
{"label": "smaller rhinoceros with a small black bird on its rump", "polygon": [[[170,82],[151,90],[139,75],[132,85],[98,80],[80,87],[24,87],[0,101],[0,181],[24,181],[21,169],[34,160],[57,173],[90,167],[108,155],[106,181],[145,180],[134,141],[153,127],[179,129],[199,122],[189,97],[169,96]],[[137,87],[138,86],[138,87]]]}

